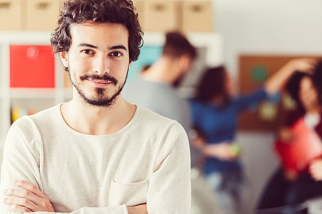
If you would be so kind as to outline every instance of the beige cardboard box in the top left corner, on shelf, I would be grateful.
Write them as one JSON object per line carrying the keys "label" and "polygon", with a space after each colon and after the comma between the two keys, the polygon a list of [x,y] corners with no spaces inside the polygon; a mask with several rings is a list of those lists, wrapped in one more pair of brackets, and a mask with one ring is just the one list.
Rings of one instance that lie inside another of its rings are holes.
{"label": "beige cardboard box in the top left corner, on shelf", "polygon": [[21,30],[21,14],[21,0],[0,0],[0,31]]}

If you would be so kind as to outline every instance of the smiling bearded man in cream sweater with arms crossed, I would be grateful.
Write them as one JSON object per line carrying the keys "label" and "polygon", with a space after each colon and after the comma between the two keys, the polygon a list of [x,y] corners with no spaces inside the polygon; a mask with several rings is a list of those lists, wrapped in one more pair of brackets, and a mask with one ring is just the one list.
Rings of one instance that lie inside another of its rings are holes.
{"label": "smiling bearded man in cream sweater with arms crossed", "polygon": [[1,213],[190,213],[183,127],[121,95],[141,36],[131,1],[65,1],[51,43],[73,99],[10,128]]}

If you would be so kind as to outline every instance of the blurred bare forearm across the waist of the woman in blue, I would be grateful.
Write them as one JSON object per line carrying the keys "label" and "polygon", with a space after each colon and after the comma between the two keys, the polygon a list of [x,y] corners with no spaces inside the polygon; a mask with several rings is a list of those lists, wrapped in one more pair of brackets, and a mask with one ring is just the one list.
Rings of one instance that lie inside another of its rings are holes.
{"label": "blurred bare forearm across the waist of the woman in blue", "polygon": [[204,147],[203,152],[210,157],[216,157],[221,160],[232,161],[238,155],[233,152],[229,143],[210,144]]}

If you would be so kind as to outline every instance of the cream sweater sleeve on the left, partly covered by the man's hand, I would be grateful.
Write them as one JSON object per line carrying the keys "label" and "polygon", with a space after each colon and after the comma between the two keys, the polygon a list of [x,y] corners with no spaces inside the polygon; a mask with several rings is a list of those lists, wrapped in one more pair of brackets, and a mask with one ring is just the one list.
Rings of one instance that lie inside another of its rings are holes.
{"label": "cream sweater sleeve on the left, partly covered by the man's hand", "polygon": [[[24,131],[23,131],[24,130]],[[6,197],[4,189],[14,187],[14,180],[29,181],[43,191],[41,177],[39,172],[39,148],[38,132],[33,128],[28,119],[22,118],[17,120],[10,128],[4,148],[4,159],[1,169],[0,183],[0,213],[4,214],[21,214],[9,210],[9,205],[3,202]],[[63,196],[63,195],[62,195]],[[29,212],[28,212],[29,213]],[[36,214],[50,214],[53,212],[33,212]],[[56,212],[62,213],[62,212]],[[124,213],[127,214],[127,207],[115,205],[110,207],[83,207],[71,212],[72,214],[103,214],[103,213]]]}

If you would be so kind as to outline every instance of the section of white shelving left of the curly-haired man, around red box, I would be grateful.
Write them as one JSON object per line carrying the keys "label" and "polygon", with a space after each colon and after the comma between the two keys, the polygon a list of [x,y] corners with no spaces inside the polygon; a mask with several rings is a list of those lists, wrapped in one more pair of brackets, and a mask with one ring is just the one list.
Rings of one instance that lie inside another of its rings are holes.
{"label": "section of white shelving left of the curly-haired man, around red box", "polygon": [[[54,88],[10,88],[10,46],[11,45],[50,45],[51,32],[0,32],[0,146],[11,125],[11,107],[23,106],[36,111],[43,110],[71,97],[71,90],[63,85],[63,67],[55,60]],[[66,93],[66,91],[69,92]]]}

